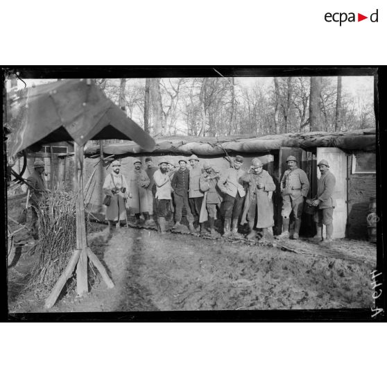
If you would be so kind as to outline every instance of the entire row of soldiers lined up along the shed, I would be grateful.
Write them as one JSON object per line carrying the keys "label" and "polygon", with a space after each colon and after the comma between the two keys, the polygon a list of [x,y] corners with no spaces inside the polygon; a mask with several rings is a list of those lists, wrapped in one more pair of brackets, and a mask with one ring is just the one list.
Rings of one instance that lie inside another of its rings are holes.
{"label": "entire row of soldiers lined up along the shed", "polygon": [[[250,169],[246,172],[243,157],[237,155],[232,160],[232,166],[220,173],[214,166],[205,162],[200,167],[196,155],[188,158],[191,166],[187,168],[187,160],[181,157],[178,167],[169,160],[163,159],[158,167],[151,157],[146,157],[146,169],[142,169],[140,160],[134,160],[135,169],[130,173],[129,182],[121,174],[121,162],[112,163],[113,173],[107,175],[103,191],[111,196],[107,207],[106,219],[113,227],[126,219],[126,203],[130,200],[130,208],[134,210],[139,221],[141,213],[146,224],[153,223],[153,213],[157,214],[157,225],[163,234],[166,221],[175,213],[175,224],[179,227],[182,219],[182,209],[185,209],[189,230],[205,233],[205,221],[209,223],[209,233],[215,235],[214,223],[217,208],[223,217],[223,236],[240,238],[239,224],[248,223],[249,233],[246,238],[254,239],[257,229],[261,229],[262,238],[271,240],[273,237],[273,192],[275,183],[271,175],[263,169],[261,160],[252,160]],[[294,156],[286,160],[288,169],[280,181],[282,193],[282,233],[279,239],[289,238],[289,219],[293,213],[293,239],[299,238],[304,200],[309,193],[307,174],[298,167]],[[316,207],[316,238],[322,241],[322,225],[326,226],[325,242],[332,241],[333,209],[335,206],[334,185],[336,180],[329,171],[327,160],[318,163],[321,178],[318,180],[317,196],[309,200]],[[172,205],[174,200],[174,206]],[[197,227],[194,226],[197,224]]]}

